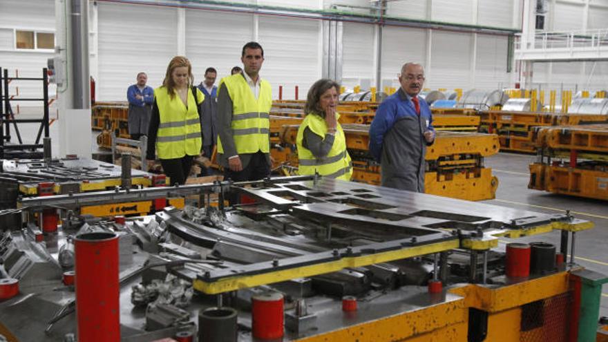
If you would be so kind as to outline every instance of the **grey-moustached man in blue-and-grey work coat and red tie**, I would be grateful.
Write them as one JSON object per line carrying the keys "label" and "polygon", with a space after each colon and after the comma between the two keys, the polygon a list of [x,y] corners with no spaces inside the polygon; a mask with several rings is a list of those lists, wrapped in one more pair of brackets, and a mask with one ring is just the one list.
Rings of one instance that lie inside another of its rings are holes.
{"label": "grey-moustached man in blue-and-grey work coat and red tie", "polygon": [[424,68],[406,63],[399,74],[401,88],[378,107],[370,126],[371,155],[381,165],[381,185],[424,192],[426,146],[435,142],[433,115],[418,97]]}

